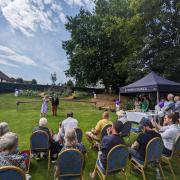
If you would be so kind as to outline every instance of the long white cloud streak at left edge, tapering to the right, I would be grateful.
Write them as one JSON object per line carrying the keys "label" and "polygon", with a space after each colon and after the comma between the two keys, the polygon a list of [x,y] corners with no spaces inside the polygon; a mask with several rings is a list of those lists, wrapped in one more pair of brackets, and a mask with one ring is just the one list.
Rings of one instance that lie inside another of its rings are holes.
{"label": "long white cloud streak at left edge, tapering to the right", "polygon": [[31,58],[18,54],[12,49],[2,45],[0,45],[0,58],[4,61],[4,63],[6,62],[6,65],[9,63],[9,61],[12,61],[20,64],[23,63],[26,65],[37,66],[37,64]]}

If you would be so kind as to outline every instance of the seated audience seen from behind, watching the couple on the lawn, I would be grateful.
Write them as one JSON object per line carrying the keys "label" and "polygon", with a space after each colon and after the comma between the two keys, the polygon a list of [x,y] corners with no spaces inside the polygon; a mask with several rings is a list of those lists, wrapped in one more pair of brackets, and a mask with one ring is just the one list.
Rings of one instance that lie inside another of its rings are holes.
{"label": "seated audience seen from behind, watching the couple on the lawn", "polygon": [[[179,99],[176,98],[176,102]],[[175,106],[176,111],[179,112],[179,106]],[[97,157],[97,163],[103,169],[106,169],[107,155],[109,151],[116,145],[123,144],[125,142],[121,137],[121,131],[123,130],[124,123],[127,120],[125,112],[121,111],[117,113],[117,120],[110,121],[109,113],[105,111],[102,114],[102,120],[99,120],[90,132],[86,132],[86,138],[90,144],[94,144],[96,139],[100,139],[100,134],[105,125],[111,124],[112,126],[107,129],[107,136],[104,136],[100,143],[100,148]],[[179,118],[179,116],[178,116]],[[148,142],[155,138],[160,137],[164,143],[163,154],[170,156],[175,139],[180,133],[179,119],[177,114],[169,113],[164,117],[163,126],[160,126],[156,121],[148,118],[143,118],[139,124],[139,128],[142,130],[135,140],[135,142],[128,148],[130,158],[135,157],[139,160],[144,160],[146,156],[146,146]],[[78,127],[78,121],[73,118],[73,113],[67,113],[67,119],[59,123],[58,133],[54,134],[47,127],[47,119],[41,118],[39,125],[33,129],[33,132],[44,131],[49,136],[50,149],[52,152],[51,159],[56,160],[58,155],[67,149],[77,149],[82,154],[86,153],[86,148],[82,143],[78,143],[77,134],[75,128]],[[84,156],[85,157],[85,156]],[[0,123],[0,167],[2,166],[18,166],[22,170],[26,170],[25,157],[18,151],[18,137],[15,133],[10,132],[8,124],[5,122]],[[55,165],[55,177],[58,177],[59,167]],[[91,178],[96,175],[95,171],[90,173]]]}

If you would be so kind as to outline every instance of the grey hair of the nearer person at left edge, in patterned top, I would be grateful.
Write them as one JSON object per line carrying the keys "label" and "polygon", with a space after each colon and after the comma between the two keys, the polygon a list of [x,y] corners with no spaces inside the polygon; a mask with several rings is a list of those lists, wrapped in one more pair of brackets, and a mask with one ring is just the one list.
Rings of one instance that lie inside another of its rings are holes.
{"label": "grey hair of the nearer person at left edge, in patterned top", "polygon": [[16,133],[8,132],[0,137],[0,151],[12,150],[18,145],[18,137]]}

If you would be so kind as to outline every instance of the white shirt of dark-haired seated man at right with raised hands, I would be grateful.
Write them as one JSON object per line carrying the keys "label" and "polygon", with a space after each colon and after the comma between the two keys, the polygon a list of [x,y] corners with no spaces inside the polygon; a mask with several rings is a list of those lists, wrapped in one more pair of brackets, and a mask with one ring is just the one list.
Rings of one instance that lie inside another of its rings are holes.
{"label": "white shirt of dark-haired seated man at right with raised hands", "polygon": [[171,151],[173,149],[177,135],[178,133],[180,133],[180,128],[177,124],[172,124],[169,126],[161,127],[159,133],[162,137],[165,148]]}

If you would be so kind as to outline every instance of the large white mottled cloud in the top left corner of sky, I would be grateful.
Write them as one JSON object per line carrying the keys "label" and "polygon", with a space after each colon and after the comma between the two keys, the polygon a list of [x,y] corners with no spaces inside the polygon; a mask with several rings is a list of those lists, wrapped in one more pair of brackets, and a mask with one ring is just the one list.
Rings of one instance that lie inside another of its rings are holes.
{"label": "large white mottled cloud in the top left corner of sky", "polygon": [[[45,3],[51,2],[46,0]],[[53,30],[53,23],[45,11],[43,0],[0,0],[0,8],[12,28],[20,30],[26,36],[33,36],[38,28]]]}

